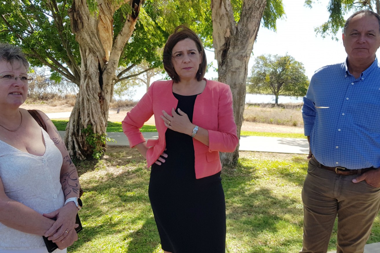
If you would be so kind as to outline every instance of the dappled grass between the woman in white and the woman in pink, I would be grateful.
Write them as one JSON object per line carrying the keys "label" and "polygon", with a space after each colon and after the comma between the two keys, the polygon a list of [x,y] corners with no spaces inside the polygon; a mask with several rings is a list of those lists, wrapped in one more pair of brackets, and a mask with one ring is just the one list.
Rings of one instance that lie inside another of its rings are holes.
{"label": "dappled grass between the woman in white and the woman in pink", "polygon": [[149,172],[138,151],[112,150],[104,160],[77,161],[84,229],[70,252],[148,253],[160,245],[147,194]]}

